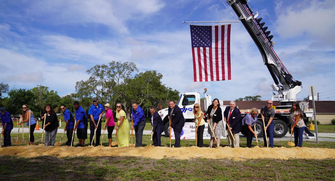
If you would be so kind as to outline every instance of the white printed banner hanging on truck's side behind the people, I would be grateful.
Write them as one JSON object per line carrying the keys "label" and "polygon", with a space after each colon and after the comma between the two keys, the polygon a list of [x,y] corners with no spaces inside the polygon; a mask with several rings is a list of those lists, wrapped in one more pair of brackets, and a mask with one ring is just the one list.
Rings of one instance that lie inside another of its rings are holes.
{"label": "white printed banner hanging on truck's side behind the people", "polygon": [[[226,132],[225,127],[226,127],[226,123],[223,121],[224,132]],[[203,136],[203,139],[210,139],[210,134],[208,134],[208,123],[207,122],[205,123],[204,134],[202,136]],[[224,137],[221,137],[221,138],[226,139],[227,138],[226,134],[224,134]],[[175,139],[175,132],[173,131],[173,128],[171,128],[171,139]],[[185,122],[185,125],[180,134],[180,139],[181,140],[195,139],[195,123],[194,122]]]}

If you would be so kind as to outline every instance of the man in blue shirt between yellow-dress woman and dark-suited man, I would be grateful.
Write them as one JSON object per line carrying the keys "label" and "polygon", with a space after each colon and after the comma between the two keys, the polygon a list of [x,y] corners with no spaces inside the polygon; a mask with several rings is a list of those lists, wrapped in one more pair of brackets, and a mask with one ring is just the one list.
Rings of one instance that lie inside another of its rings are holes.
{"label": "man in blue shirt between yellow-dress woman and dark-suited man", "polygon": [[145,127],[145,116],[142,108],[138,106],[137,102],[132,102],[133,111],[131,115],[133,117],[133,126],[131,126],[131,130],[135,128],[135,137],[136,137],[136,144],[135,147],[142,146],[142,136],[143,136],[143,129]]}

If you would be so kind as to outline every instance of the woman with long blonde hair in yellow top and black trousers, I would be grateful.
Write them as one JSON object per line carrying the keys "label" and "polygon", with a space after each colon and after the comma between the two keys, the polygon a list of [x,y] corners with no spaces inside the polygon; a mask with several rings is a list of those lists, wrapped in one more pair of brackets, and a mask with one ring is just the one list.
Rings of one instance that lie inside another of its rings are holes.
{"label": "woman with long blonde hair in yellow top and black trousers", "polygon": [[205,129],[204,113],[201,111],[199,103],[193,106],[194,122],[196,125],[195,131],[197,132],[197,147],[203,146],[203,134]]}

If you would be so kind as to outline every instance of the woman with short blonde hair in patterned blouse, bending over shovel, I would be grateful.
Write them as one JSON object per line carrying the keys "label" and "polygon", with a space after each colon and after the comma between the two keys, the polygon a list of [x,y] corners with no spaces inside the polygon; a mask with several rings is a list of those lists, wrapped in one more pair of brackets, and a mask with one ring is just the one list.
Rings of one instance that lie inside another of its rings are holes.
{"label": "woman with short blonde hair in patterned blouse, bending over shovel", "polygon": [[253,107],[250,112],[244,116],[242,119],[242,129],[247,133],[247,147],[251,147],[252,137],[256,137],[256,133],[253,130],[253,126],[256,124],[257,121],[258,110],[257,108]]}

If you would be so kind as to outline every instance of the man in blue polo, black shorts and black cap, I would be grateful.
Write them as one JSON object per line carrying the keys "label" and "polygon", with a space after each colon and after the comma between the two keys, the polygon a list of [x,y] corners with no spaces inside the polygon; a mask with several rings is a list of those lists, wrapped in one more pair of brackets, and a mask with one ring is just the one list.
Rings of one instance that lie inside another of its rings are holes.
{"label": "man in blue polo, black shorts and black cap", "polygon": [[83,147],[85,140],[87,139],[87,117],[85,110],[79,105],[78,101],[73,102],[75,108],[74,114],[76,116],[76,126],[73,128],[73,131],[77,129],[77,137],[79,143],[76,147]]}

